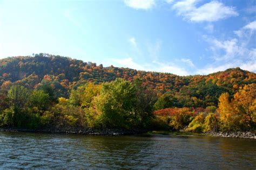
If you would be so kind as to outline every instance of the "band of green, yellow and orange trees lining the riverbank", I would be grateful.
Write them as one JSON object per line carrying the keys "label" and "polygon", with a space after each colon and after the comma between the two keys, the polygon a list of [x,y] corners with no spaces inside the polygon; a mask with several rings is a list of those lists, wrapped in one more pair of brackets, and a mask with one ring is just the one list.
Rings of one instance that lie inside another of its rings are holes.
{"label": "band of green, yellow and orange trees lining the riverbank", "polygon": [[160,97],[134,82],[116,79],[73,88],[69,98],[57,97],[50,84],[35,89],[21,85],[1,91],[0,125],[37,129],[44,126],[185,130],[192,132],[255,130],[256,84],[231,97],[223,93],[218,107],[182,107],[166,93]]}

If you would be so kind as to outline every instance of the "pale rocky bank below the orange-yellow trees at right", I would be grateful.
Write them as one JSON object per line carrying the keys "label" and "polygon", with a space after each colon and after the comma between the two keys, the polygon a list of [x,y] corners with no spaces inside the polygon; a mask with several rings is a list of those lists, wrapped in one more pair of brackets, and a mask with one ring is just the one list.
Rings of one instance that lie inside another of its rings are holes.
{"label": "pale rocky bank below the orange-yellow trees at right", "polygon": [[205,134],[214,137],[256,139],[256,134],[253,132],[206,132]]}

